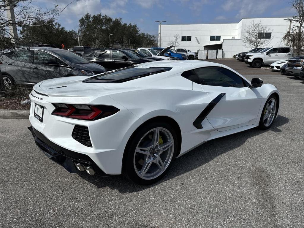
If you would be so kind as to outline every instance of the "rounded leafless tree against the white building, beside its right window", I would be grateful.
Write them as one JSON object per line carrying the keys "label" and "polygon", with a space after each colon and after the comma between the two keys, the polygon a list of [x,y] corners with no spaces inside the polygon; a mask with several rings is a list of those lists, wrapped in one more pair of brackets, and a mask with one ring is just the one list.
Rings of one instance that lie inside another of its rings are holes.
{"label": "rounded leafless tree against the white building, beside its right window", "polygon": [[259,22],[250,22],[249,26],[246,26],[244,35],[241,40],[245,43],[245,46],[248,48],[251,47],[263,47],[270,43],[272,37],[269,37],[267,33],[271,33],[272,30],[267,26],[263,26],[261,21]]}

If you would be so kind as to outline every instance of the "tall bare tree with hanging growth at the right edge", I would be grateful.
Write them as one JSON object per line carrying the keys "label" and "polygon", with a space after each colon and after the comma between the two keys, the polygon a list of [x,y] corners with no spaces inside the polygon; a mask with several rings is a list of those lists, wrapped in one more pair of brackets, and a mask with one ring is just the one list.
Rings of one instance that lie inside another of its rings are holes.
{"label": "tall bare tree with hanging growth at the right edge", "polygon": [[296,16],[289,19],[290,23],[295,22],[290,31],[287,31],[283,41],[287,46],[291,46],[296,55],[301,55],[304,47],[304,0],[293,0],[292,7],[295,9]]}

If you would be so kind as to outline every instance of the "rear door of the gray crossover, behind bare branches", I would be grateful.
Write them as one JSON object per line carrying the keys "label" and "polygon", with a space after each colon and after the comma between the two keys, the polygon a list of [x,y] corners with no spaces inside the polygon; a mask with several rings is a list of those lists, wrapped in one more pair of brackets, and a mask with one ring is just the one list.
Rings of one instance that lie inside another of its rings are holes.
{"label": "rear door of the gray crossover, behind bare branches", "polygon": [[[32,83],[32,67],[30,62],[31,50],[17,50],[12,54],[12,60],[18,64],[18,71],[12,75],[13,78],[18,78],[19,83]],[[15,68],[16,69],[16,68]]]}

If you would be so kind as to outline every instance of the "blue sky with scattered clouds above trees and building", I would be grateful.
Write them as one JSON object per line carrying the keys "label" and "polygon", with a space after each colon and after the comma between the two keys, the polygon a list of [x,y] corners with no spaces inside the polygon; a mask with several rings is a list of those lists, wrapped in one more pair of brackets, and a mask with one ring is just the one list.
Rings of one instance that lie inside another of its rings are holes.
{"label": "blue sky with scattered clouds above trees and building", "polygon": [[[58,4],[66,6],[72,0],[36,0],[42,8]],[[157,34],[155,20],[166,24],[239,22],[250,17],[287,17],[295,14],[286,0],[78,0],[58,16],[66,29],[75,29],[86,12],[121,17],[135,23],[141,32]]]}

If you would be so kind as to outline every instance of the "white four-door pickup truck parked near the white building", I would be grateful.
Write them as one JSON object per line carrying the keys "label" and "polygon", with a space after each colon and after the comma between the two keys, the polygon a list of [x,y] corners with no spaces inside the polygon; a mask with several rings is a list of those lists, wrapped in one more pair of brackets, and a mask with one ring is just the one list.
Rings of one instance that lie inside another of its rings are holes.
{"label": "white four-door pickup truck parked near the white building", "polygon": [[245,63],[254,68],[259,68],[263,64],[272,64],[278,60],[286,60],[292,57],[290,47],[272,47],[264,52],[251,53],[246,55]]}

